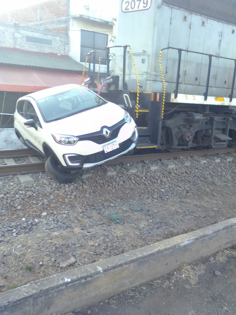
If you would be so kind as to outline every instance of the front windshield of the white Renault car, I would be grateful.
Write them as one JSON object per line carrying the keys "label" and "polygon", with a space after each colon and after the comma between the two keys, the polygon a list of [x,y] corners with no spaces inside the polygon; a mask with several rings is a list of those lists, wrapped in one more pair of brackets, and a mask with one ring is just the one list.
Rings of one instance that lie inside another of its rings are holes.
{"label": "front windshield of the white Renault car", "polygon": [[106,103],[100,96],[83,87],[37,100],[37,106],[46,123],[66,118]]}

